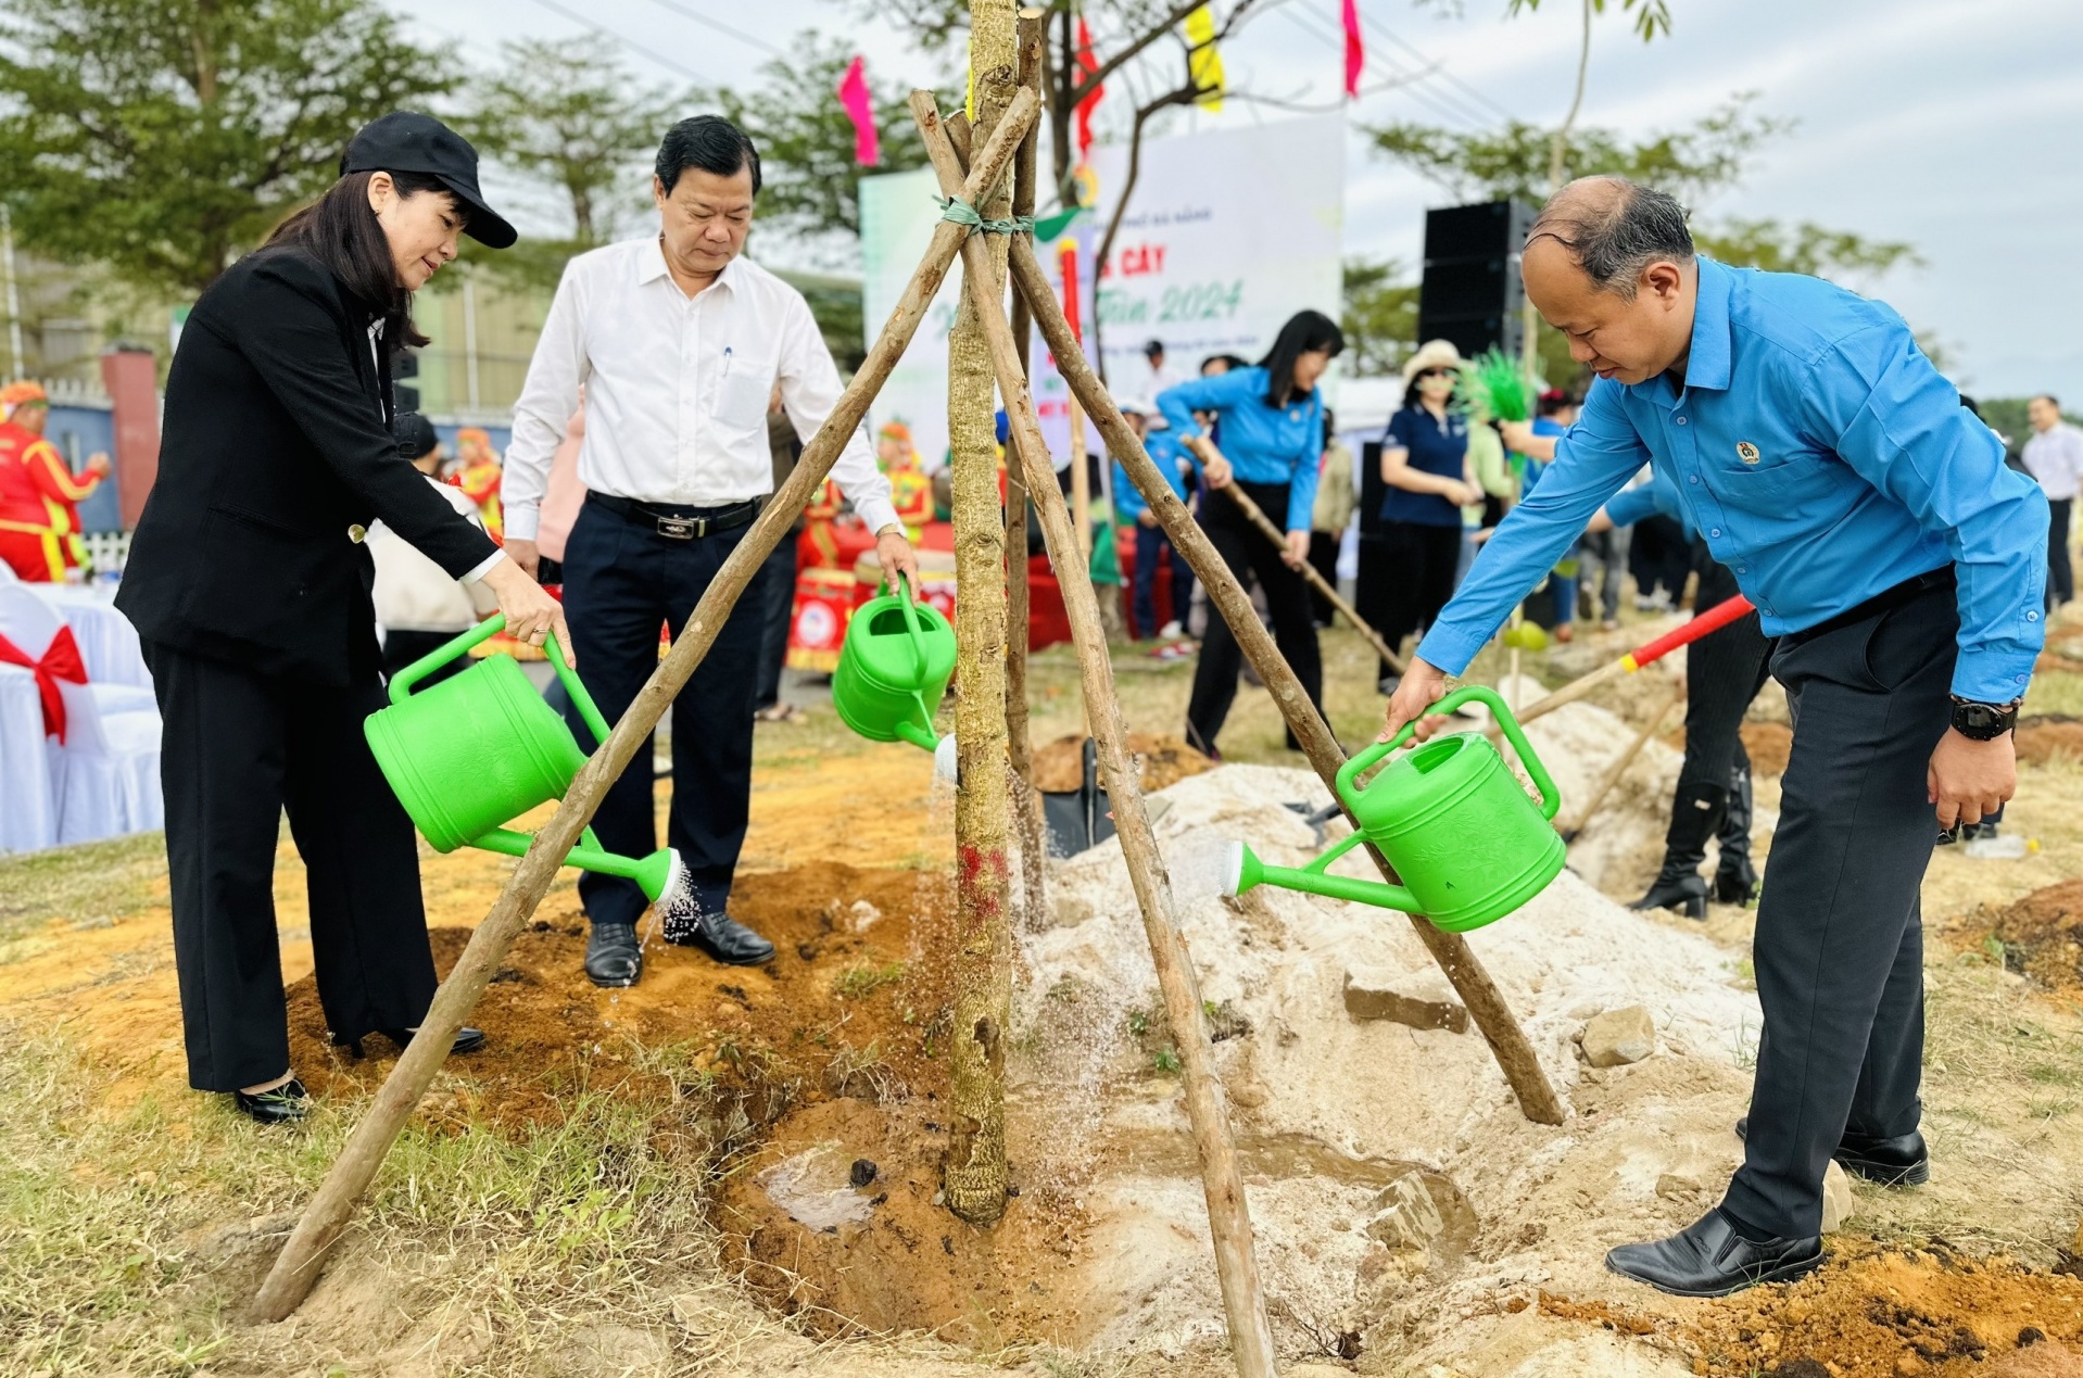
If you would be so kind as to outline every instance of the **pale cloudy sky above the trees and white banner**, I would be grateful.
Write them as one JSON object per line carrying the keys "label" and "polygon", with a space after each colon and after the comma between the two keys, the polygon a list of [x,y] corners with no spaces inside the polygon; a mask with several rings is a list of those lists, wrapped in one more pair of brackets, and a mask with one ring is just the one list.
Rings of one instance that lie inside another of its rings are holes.
{"label": "pale cloudy sky above the trees and white banner", "polygon": [[[1335,0],[1260,0],[1223,46],[1233,92],[1335,106]],[[2054,391],[2083,410],[2083,4],[2077,0],[1668,0],[1673,31],[1643,44],[1610,0],[1593,29],[1581,121],[1641,137],[1689,125],[1735,92],[1798,121],[1696,219],[1814,221],[1916,246],[1921,266],[1854,283],[1937,337],[1977,395]],[[1219,4],[1219,12],[1227,6]],[[635,77],[669,87],[756,85],[802,29],[846,33],[877,81],[946,79],[946,56],[844,0],[421,0],[427,40],[479,67],[506,37],[612,35]],[[1506,114],[1552,125],[1568,108],[1579,8],[1546,0],[1360,0],[1362,98],[1348,108],[1346,252],[1419,260],[1423,212],[1458,198],[1373,152],[1360,127],[1425,121],[1473,131]],[[1102,44],[1104,50],[1104,44]],[[1398,81],[1423,73],[1416,81]],[[1114,114],[1127,106],[1114,98]],[[1102,106],[1102,135],[1108,127]],[[1289,119],[1231,100],[1212,123]],[[1183,133],[1185,127],[1181,125]],[[1225,175],[1210,169],[1210,175]],[[494,183],[496,179],[487,179]],[[490,185],[487,185],[490,189]]]}

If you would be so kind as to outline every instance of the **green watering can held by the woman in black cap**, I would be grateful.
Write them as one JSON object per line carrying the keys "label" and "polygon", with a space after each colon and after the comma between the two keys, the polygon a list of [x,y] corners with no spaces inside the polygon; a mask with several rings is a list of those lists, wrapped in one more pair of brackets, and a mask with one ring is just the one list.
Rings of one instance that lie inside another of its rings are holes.
{"label": "green watering can held by the woman in black cap", "polygon": [[[483,847],[523,856],[533,839],[504,824],[537,803],[562,799],[585,764],[564,718],[535,693],[512,656],[487,656],[412,693],[427,674],[504,629],[506,614],[494,616],[408,664],[390,683],[390,708],[369,714],[362,724],[383,779],[435,851]],[[548,652],[585,726],[596,741],[606,741],[608,724],[564,664],[554,635]],[[592,828],[564,864],[635,881],[652,903],[687,889],[687,868],[671,847],[642,860],[614,856]]]}

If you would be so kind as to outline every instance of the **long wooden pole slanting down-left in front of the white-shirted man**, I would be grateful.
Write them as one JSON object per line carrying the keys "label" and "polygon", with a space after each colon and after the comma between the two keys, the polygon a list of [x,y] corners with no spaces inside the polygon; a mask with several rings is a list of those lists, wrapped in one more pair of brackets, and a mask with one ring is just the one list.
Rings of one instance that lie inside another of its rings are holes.
{"label": "long wooden pole slanting down-left in front of the white-shirted man", "polygon": [[[1039,106],[1031,92],[1023,92],[1012,102],[1006,119],[1000,121],[977,158],[977,171],[964,189],[967,198],[981,196],[1004,175],[1014,146],[1033,123],[1037,110]],[[435,991],[433,1005],[427,1010],[427,1018],[421,1022],[412,1043],[398,1057],[398,1066],[392,1068],[392,1074],[362,1114],[360,1124],[354,1126],[354,1134],[340,1151],[331,1172],[325,1174],[319,1193],[304,1207],[304,1216],[296,1222],[290,1243],[275,1257],[275,1266],[269,1270],[252,1303],[252,1313],[258,1320],[273,1322],[285,1318],[304,1301],[312,1282],[319,1280],[319,1266],[325,1261],[325,1253],[348,1228],[354,1207],[375,1180],[377,1168],[383,1166],[383,1157],[404,1128],[406,1118],[419,1105],[427,1087],[433,1084],[435,1072],[442,1070],[442,1062],[456,1041],[456,1030],[462,1028],[471,1010],[477,1007],[485,985],[490,985],[492,974],[498,972],[500,962],[506,958],[506,949],[512,947],[515,937],[519,937],[521,928],[535,914],[535,905],[542,903],[558,868],[564,864],[564,856],[579,841],[579,833],[592,822],[594,810],[608,787],[629,766],[629,760],[650,737],[658,718],[664,716],[673,697],[687,683],[687,677],[702,664],[702,656],[714,645],[717,633],[723,631],[723,622],[746,591],[746,585],[787,533],[789,525],[794,525],[796,516],[808,506],[810,495],[831,473],[833,462],[854,437],[854,431],[860,429],[869,402],[919,331],[919,323],[933,304],[933,294],[939,291],[939,281],[960,252],[964,237],[967,231],[960,225],[944,221],[933,227],[933,244],[904,287],[904,296],[883,325],[875,348],[869,350],[860,373],[854,375],[854,381],[839,395],[825,425],[804,445],[802,460],[798,460],[796,470],[781,485],[781,491],[773,495],[758,520],[752,522],[752,529],[737,541],[737,550],[717,570],[717,579],[710,581],[694,616],[687,618],[685,629],[673,641],[673,649],[637,693],[635,704],[629,706],[623,720],[614,724],[608,739],[600,743],[592,760],[579,770],[550,822],[535,833],[535,841],[506,878],[506,887],[492,903],[492,912],[471,933],[471,941],[456,960],[456,968],[442,983],[442,989]]]}

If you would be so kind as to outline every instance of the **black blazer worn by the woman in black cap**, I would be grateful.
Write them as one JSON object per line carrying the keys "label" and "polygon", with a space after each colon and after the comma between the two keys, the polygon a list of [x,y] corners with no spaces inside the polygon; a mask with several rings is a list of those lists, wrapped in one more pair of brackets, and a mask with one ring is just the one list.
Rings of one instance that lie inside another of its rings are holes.
{"label": "black blazer worn by the woman in black cap", "polygon": [[[146,641],[319,685],[379,664],[383,518],[450,575],[494,554],[398,454],[373,306],[302,250],[248,254],[187,316],[167,377],[158,481],[117,608]],[[381,356],[381,358],[379,358]]]}

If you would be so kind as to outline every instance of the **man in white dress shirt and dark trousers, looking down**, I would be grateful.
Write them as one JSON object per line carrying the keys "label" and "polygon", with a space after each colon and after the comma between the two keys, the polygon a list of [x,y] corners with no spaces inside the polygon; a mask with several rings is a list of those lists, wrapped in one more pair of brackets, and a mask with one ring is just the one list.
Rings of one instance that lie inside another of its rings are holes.
{"label": "man in white dress shirt and dark trousers, looking down", "polygon": [[[533,570],[550,454],[585,385],[587,495],[564,543],[564,608],[585,685],[610,722],[658,664],[658,624],[679,635],[773,491],[775,385],[804,439],[839,400],[839,371],[802,294],[739,258],[758,189],[758,150],[735,125],[714,114],[673,125],[652,177],[658,237],[571,260],[515,404],[506,554]],[[883,575],[917,572],[864,435],[848,439],[831,475],[875,531]],[[773,943],[727,912],[752,795],[756,602],[739,599],[673,704],[667,837],[692,870],[702,916],[669,937],[735,966],[773,958]],[[573,731],[592,741],[575,716]],[[608,791],[594,828],[608,851],[656,847],[650,749]],[[592,918],[585,974],[635,985],[644,893],[587,872],[579,897]]]}

